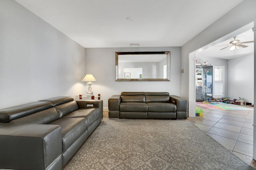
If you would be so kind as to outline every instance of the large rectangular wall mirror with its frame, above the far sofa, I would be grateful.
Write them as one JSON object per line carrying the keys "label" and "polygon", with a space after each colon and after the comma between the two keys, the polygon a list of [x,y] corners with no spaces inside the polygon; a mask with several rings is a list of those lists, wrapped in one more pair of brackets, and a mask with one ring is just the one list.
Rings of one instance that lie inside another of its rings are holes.
{"label": "large rectangular wall mirror with its frame, above the far sofa", "polygon": [[170,51],[116,52],[116,81],[170,81]]}

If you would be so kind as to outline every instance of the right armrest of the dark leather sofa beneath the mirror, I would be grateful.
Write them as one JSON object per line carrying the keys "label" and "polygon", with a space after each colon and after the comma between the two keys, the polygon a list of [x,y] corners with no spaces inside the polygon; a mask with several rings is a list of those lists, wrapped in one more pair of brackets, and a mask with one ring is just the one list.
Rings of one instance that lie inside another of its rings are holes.
{"label": "right armrest of the dark leather sofa beneath the mirror", "polygon": [[181,98],[179,96],[171,95],[171,103],[176,104],[176,118],[177,119],[186,119],[188,115],[188,100]]}

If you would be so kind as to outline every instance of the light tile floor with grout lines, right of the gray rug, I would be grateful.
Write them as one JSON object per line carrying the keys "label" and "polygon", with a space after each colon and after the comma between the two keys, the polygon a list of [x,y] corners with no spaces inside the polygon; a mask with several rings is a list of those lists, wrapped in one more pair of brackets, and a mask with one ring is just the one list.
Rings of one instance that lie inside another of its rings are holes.
{"label": "light tile floor with grout lines, right of the gray rug", "polygon": [[256,169],[256,160],[252,159],[254,111],[200,108],[203,116],[188,117],[188,120]]}

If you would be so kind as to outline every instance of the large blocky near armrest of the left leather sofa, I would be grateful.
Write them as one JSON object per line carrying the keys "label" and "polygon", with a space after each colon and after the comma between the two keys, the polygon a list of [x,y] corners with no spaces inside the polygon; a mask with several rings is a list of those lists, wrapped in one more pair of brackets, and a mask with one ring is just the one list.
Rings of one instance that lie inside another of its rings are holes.
{"label": "large blocky near armrest of the left leather sofa", "polygon": [[0,123],[0,167],[42,170],[62,167],[61,127],[58,125]]}

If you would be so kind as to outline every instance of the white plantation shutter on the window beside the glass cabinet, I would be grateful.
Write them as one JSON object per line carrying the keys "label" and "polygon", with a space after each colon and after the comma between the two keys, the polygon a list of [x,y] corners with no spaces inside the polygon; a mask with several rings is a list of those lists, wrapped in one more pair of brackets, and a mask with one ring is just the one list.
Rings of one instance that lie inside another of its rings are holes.
{"label": "white plantation shutter on the window beside the glass cabinet", "polygon": [[213,97],[224,97],[224,66],[214,67]]}

